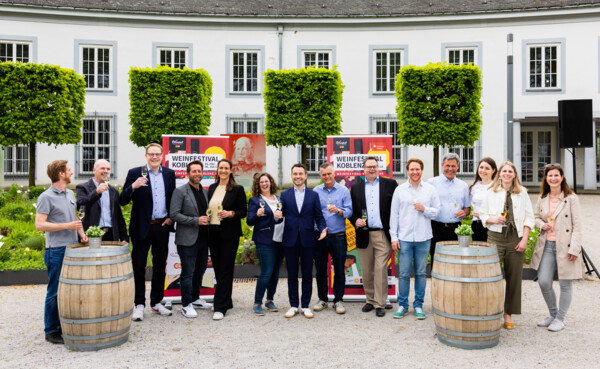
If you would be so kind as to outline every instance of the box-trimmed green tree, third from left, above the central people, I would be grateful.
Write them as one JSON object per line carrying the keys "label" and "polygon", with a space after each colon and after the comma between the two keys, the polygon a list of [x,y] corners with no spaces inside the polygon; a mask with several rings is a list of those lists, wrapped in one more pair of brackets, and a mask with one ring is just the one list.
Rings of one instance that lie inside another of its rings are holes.
{"label": "box-trimmed green tree, third from left, above the central people", "polygon": [[265,72],[265,140],[272,146],[324,145],[342,131],[342,78],[326,68]]}

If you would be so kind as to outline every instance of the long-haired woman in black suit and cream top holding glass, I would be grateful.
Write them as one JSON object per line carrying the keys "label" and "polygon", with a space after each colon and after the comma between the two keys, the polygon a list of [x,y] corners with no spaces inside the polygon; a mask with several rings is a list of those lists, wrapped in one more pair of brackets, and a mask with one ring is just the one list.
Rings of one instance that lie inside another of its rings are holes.
{"label": "long-haired woman in black suit and cream top holding glass", "polygon": [[240,237],[241,219],[246,217],[246,193],[235,182],[231,161],[221,159],[217,164],[215,183],[208,188],[210,256],[215,270],[217,287],[214,297],[214,320],[221,320],[233,308],[233,269]]}

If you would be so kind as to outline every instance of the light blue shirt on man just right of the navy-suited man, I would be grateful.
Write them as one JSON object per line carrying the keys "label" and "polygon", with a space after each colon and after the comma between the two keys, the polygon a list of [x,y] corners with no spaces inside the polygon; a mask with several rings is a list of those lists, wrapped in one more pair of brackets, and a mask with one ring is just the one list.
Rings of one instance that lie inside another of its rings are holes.
{"label": "light blue shirt on man just right of the navy-suited man", "polygon": [[[327,223],[327,233],[340,233],[346,231],[346,218],[352,215],[352,199],[350,198],[350,191],[346,186],[334,182],[331,189],[327,189],[325,184],[320,184],[314,188],[315,192],[319,195],[321,202],[321,211]],[[330,201],[331,205],[335,205],[338,209],[342,210],[342,215],[331,213],[327,210],[327,200]]]}

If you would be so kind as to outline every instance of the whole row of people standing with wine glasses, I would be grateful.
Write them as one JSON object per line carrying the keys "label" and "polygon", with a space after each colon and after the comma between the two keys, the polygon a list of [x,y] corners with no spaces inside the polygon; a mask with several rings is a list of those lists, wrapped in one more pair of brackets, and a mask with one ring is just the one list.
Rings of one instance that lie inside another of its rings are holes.
{"label": "whole row of people standing with wine glasses", "polygon": [[[540,287],[549,316],[538,325],[559,331],[564,327],[573,279],[582,278],[581,227],[577,196],[569,189],[560,165],[547,166],[540,199],[533,215],[527,191],[510,162],[499,169],[491,158],[482,159],[469,188],[456,178],[460,159],[447,154],[442,160],[443,174],[422,181],[424,164],[409,159],[408,181],[398,186],[393,179],[379,176],[377,157],[363,161],[364,181],[348,190],[336,183],[333,166],[324,163],[319,172],[322,184],[311,190],[306,186],[306,167],[292,167],[293,187],[277,196],[275,180],[269,173],[255,175],[252,198],[246,205],[244,188],[232,174],[232,163],[218,162],[215,182],[208,191],[202,187],[203,163],[187,165],[188,183],[175,188],[175,173],[163,167],[163,149],[159,144],[146,147],[147,163],[132,168],[121,194],[108,184],[110,163],[99,160],[94,177],[73,192],[66,188],[72,172],[64,160],[50,163],[48,176],[52,186],[39,198],[36,228],[46,232],[44,261],[48,267],[48,290],[44,321],[46,340],[62,343],[56,293],[65,247],[87,242],[84,229],[99,225],[105,241],[132,244],[135,300],[132,319],[141,321],[145,310],[145,269],[152,248],[150,307],[160,315],[172,310],[162,304],[169,233],[175,232],[181,259],[181,313],[197,316],[196,309],[213,308],[213,319],[221,320],[233,308],[232,286],[235,257],[242,236],[241,221],[254,227],[253,240],[260,260],[253,311],[264,315],[277,311],[274,296],[283,257],[288,271],[290,309],[286,318],[302,313],[312,318],[314,311],[329,306],[327,265],[331,256],[334,269],[333,308],[344,314],[345,263],[347,259],[346,219],[356,230],[366,303],[362,311],[375,310],[385,316],[388,291],[388,261],[391,251],[398,253],[398,310],[394,318],[408,314],[410,275],[414,265],[417,319],[425,319],[423,301],[426,287],[427,256],[435,253],[439,241],[454,240],[454,229],[469,215],[473,206],[474,240],[488,241],[498,247],[506,273],[504,326],[514,328],[512,314],[521,313],[521,277],[523,251],[531,229],[537,226],[540,237],[532,259],[538,269]],[[117,203],[118,201],[118,203]],[[132,202],[129,236],[119,205]],[[86,206],[79,220],[76,205]],[[176,228],[174,229],[174,224]],[[199,296],[208,251],[217,280],[214,306]],[[318,302],[310,308],[313,261],[317,270]],[[552,279],[558,268],[561,295],[557,306]],[[301,294],[298,273],[302,271]]]}

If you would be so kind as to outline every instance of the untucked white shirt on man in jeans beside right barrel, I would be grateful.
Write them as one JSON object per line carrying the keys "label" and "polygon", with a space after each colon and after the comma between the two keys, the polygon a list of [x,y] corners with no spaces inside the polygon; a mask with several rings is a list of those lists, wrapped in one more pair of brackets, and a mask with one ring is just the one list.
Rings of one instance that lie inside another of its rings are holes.
{"label": "untucked white shirt on man in jeans beside right barrel", "polygon": [[[415,209],[423,204],[425,211]],[[422,181],[417,189],[409,183],[396,187],[390,213],[390,236],[393,241],[423,242],[433,238],[431,219],[440,213],[440,198],[435,187]]]}

